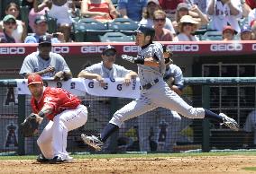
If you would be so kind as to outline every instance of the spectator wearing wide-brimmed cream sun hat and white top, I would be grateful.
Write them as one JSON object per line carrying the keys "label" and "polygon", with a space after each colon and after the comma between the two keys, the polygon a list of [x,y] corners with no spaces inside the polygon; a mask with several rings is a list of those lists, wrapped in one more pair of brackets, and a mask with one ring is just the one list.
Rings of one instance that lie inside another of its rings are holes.
{"label": "spectator wearing wide-brimmed cream sun hat and white top", "polygon": [[184,15],[180,22],[178,22],[178,36],[174,38],[174,41],[199,41],[199,39],[193,35],[198,29],[198,22],[190,15]]}

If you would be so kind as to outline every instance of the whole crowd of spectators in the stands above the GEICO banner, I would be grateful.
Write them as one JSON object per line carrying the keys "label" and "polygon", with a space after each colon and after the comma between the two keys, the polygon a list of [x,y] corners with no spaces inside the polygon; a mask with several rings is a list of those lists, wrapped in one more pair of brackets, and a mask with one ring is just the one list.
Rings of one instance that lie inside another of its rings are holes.
{"label": "whole crowd of spectators in the stands above the GEICO banner", "polygon": [[[8,0],[0,2],[0,42],[33,43],[48,33],[52,42],[90,41],[85,39],[87,19],[107,28],[115,19],[154,27],[156,41],[247,40],[256,39],[254,0]],[[42,20],[39,20],[42,19]],[[125,21],[127,19],[127,21]],[[90,21],[91,22],[91,21]],[[95,25],[97,26],[97,25]],[[90,29],[91,30],[91,29]],[[95,27],[94,30],[97,30]],[[214,34],[213,34],[214,33]],[[113,34],[112,34],[113,35]],[[212,37],[214,35],[214,37]],[[119,34],[119,37],[122,35]],[[95,40],[92,40],[95,41]],[[100,41],[100,40],[99,40]],[[115,40],[111,40],[115,41]],[[120,41],[120,38],[117,40]],[[128,40],[123,37],[123,41]]]}

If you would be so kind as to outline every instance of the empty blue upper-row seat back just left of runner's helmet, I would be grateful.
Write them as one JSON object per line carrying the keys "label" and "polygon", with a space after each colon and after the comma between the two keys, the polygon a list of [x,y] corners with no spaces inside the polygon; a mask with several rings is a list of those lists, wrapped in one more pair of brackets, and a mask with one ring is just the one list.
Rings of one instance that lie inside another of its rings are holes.
{"label": "empty blue upper-row seat back just left of runner's helmet", "polygon": [[116,18],[113,22],[108,22],[108,29],[123,32],[126,35],[133,35],[133,31],[138,28],[138,23],[131,19]]}

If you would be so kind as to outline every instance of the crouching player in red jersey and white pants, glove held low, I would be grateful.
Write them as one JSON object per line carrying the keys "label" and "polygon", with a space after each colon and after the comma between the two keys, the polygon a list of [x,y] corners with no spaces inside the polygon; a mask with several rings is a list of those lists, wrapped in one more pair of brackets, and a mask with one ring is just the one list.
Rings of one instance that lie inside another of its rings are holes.
{"label": "crouching player in red jersey and white pants, glove held low", "polygon": [[28,88],[32,93],[33,113],[21,124],[22,134],[26,137],[35,135],[43,117],[50,120],[37,140],[42,153],[37,161],[71,161],[72,157],[66,151],[68,132],[86,124],[87,108],[69,91],[44,87],[39,74],[28,76]]}

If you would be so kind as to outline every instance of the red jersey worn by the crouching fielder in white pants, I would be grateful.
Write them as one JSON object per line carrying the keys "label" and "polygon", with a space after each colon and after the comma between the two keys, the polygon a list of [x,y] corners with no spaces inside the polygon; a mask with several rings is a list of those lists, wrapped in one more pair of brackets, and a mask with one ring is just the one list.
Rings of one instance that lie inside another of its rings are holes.
{"label": "red jersey worn by the crouching fielder in white pants", "polygon": [[69,93],[69,91],[61,88],[44,88],[40,101],[32,97],[31,104],[34,113],[39,113],[42,107],[46,104],[52,107],[52,112],[47,117],[53,120],[53,117],[66,109],[76,109],[80,104],[80,100]]}

